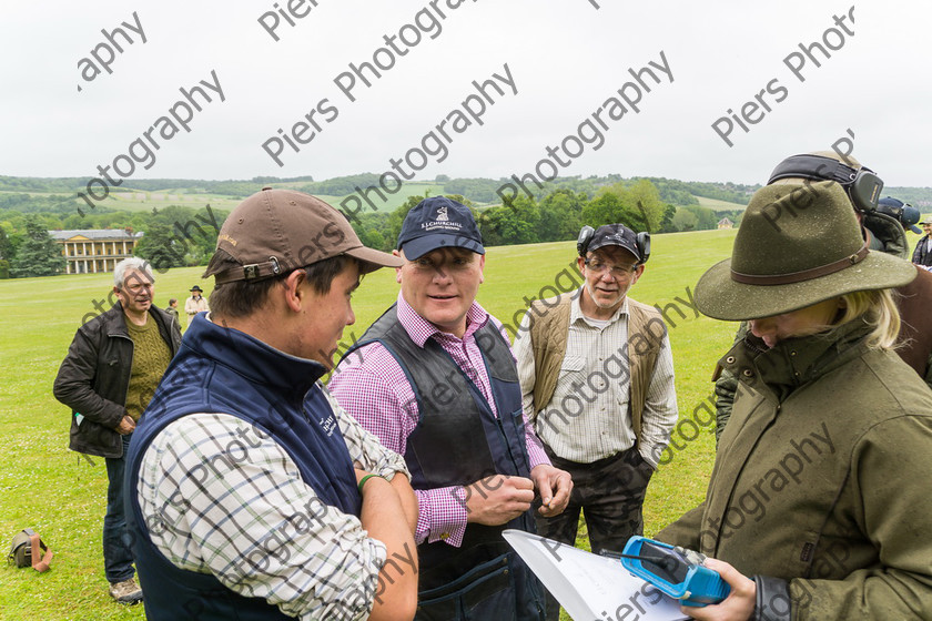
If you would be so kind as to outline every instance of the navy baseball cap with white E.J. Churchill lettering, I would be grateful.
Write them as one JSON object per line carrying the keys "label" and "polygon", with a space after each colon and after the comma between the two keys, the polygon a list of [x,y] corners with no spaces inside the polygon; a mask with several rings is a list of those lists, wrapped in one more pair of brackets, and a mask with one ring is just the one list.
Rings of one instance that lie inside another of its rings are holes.
{"label": "navy baseball cap with white E.J. Churchill lettering", "polygon": [[430,196],[412,207],[402,223],[397,247],[411,261],[443,247],[485,254],[473,212],[446,196]]}

